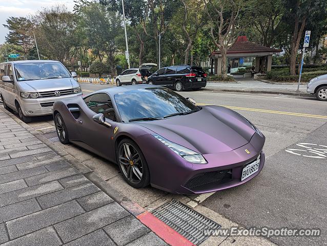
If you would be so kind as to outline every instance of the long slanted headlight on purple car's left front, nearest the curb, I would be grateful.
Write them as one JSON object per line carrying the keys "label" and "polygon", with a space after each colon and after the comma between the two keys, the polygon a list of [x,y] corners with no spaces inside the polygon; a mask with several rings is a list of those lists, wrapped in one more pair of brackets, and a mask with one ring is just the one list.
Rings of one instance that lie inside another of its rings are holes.
{"label": "long slanted headlight on purple car's left front, nearest the curb", "polygon": [[174,151],[177,155],[181,156],[183,159],[192,162],[192,163],[199,163],[199,164],[205,164],[207,163],[205,157],[203,157],[201,154],[190,150],[188,148],[185,148],[183,146],[177,145],[174,142],[171,142],[167,140],[164,137],[161,137],[158,134],[152,134],[156,139],[158,139],[162,144],[166,145],[169,149]]}

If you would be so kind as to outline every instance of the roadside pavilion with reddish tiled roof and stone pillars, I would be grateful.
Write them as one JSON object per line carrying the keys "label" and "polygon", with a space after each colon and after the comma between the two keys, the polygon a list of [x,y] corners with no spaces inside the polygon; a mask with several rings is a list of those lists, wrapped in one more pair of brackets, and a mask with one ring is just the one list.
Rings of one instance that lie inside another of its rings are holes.
{"label": "roadside pavilion with reddish tiled roof and stone pillars", "polygon": [[[267,71],[271,70],[272,55],[281,52],[282,50],[265,47],[262,45],[250,42],[247,36],[239,36],[236,42],[228,49],[227,57],[267,57]],[[214,61],[215,74],[221,74],[221,53],[214,51],[210,54],[212,65]],[[256,59],[256,72],[259,70],[260,59]]]}

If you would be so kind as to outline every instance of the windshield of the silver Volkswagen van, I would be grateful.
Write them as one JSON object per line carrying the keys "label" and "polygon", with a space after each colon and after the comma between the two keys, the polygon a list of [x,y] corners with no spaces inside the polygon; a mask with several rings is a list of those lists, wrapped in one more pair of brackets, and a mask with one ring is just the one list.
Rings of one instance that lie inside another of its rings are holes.
{"label": "windshield of the silver Volkswagen van", "polygon": [[17,81],[37,80],[47,78],[69,78],[71,75],[61,63],[31,63],[15,64]]}

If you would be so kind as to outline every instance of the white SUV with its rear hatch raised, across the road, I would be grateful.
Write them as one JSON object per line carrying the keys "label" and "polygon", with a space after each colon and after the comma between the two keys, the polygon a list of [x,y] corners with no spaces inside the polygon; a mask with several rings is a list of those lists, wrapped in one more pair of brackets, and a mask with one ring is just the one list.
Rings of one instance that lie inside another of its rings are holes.
{"label": "white SUV with its rear hatch raised, across the road", "polygon": [[116,77],[116,85],[144,84],[152,74],[151,69],[156,66],[155,63],[144,63],[139,68],[127,69]]}

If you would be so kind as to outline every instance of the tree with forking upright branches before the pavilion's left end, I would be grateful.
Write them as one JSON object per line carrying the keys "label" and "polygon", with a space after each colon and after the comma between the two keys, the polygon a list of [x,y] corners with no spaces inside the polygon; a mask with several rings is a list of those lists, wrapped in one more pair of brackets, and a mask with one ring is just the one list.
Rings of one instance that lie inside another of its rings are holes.
{"label": "tree with forking upright branches before the pavilion's left end", "polygon": [[221,54],[221,75],[227,77],[227,51],[242,30],[240,11],[242,0],[209,0],[206,11],[209,17],[211,36]]}

